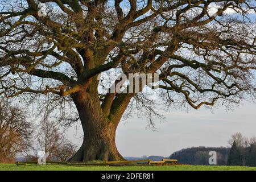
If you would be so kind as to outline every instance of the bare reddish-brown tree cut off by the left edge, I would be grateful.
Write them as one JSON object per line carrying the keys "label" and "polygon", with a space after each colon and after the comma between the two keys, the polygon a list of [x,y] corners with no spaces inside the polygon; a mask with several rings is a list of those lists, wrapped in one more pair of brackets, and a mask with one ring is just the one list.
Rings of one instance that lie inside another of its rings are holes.
{"label": "bare reddish-brown tree cut off by the left edge", "polygon": [[0,163],[14,162],[17,154],[27,152],[33,131],[24,109],[0,100]]}

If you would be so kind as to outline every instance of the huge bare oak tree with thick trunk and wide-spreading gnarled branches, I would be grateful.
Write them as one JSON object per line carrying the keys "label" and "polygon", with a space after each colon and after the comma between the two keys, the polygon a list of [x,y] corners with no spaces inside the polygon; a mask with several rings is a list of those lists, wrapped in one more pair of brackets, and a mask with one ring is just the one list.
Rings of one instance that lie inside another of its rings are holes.
{"label": "huge bare oak tree with thick trunk and wide-spreading gnarled branches", "polygon": [[255,96],[254,1],[3,0],[0,9],[0,93],[72,101],[84,140],[71,161],[123,159],[115,130],[130,101],[152,111],[145,94],[101,92],[102,72],[158,73],[152,89],[167,106]]}

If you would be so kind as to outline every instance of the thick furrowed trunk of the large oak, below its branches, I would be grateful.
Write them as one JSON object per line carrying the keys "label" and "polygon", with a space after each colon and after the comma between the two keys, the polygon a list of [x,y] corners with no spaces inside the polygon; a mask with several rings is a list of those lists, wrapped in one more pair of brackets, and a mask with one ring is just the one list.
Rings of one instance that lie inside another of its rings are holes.
{"label": "thick furrowed trunk of the large oak, below its branches", "polygon": [[79,111],[84,141],[79,151],[69,161],[123,160],[115,146],[117,124],[106,118],[98,99],[86,92],[79,92],[73,97],[73,101]]}

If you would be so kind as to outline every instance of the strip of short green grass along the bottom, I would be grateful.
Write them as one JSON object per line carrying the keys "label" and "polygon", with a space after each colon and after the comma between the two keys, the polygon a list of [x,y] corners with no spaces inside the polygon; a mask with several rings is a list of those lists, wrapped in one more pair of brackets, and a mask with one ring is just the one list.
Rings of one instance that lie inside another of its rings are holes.
{"label": "strip of short green grass along the bottom", "polygon": [[36,165],[16,166],[16,164],[0,164],[0,171],[249,171],[256,167],[241,166],[64,166]]}

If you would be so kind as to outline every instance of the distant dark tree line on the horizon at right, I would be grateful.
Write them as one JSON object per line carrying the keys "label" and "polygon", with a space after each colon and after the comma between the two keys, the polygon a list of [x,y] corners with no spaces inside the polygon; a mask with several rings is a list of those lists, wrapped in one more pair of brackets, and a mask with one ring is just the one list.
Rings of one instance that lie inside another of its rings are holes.
{"label": "distant dark tree line on the horizon at right", "polygon": [[233,134],[230,147],[191,147],[174,152],[170,159],[191,165],[209,165],[209,151],[216,151],[219,166],[256,166],[256,138]]}

